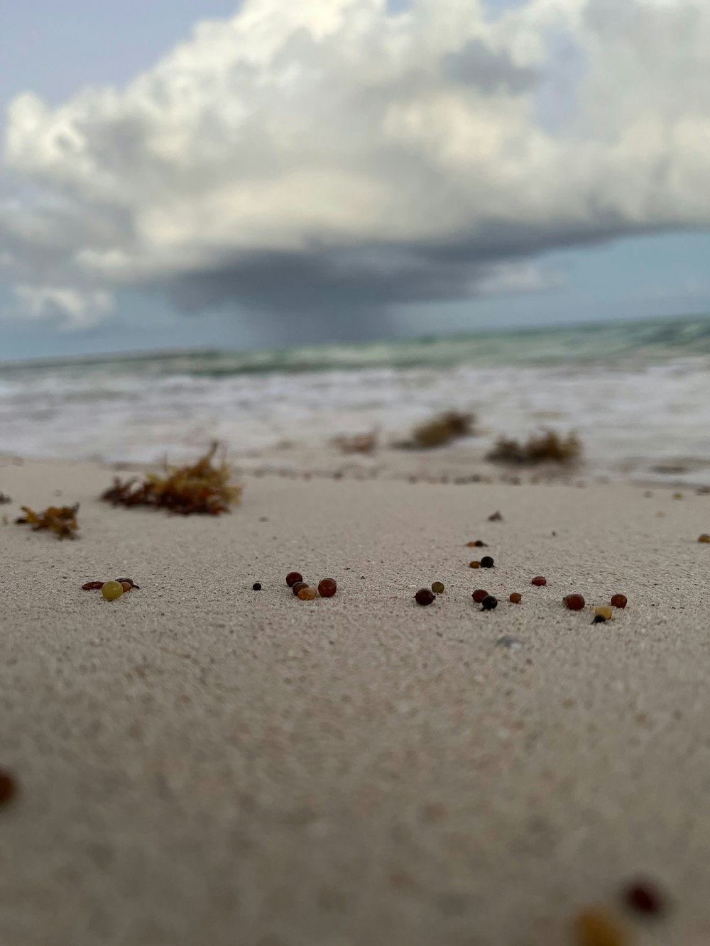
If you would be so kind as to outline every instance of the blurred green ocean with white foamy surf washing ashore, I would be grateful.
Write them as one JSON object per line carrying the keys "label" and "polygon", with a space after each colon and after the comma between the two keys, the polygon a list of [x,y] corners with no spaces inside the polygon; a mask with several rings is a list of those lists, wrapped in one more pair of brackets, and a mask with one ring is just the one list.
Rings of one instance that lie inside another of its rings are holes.
{"label": "blurred green ocean with white foamy surf washing ashore", "polygon": [[386,439],[449,409],[487,448],[576,430],[592,477],[710,484],[710,316],[457,337],[0,364],[0,452],[152,462],[211,440]]}

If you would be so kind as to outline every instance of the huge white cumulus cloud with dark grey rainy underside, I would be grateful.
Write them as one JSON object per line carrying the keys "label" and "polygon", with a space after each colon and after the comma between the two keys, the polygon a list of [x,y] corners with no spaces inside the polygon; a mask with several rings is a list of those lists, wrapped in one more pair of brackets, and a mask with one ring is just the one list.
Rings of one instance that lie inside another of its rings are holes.
{"label": "huge white cumulus cloud with dark grey rainy underside", "polygon": [[123,90],[10,104],[0,272],[74,324],[538,291],[544,250],[710,226],[709,46],[692,0],[247,0]]}

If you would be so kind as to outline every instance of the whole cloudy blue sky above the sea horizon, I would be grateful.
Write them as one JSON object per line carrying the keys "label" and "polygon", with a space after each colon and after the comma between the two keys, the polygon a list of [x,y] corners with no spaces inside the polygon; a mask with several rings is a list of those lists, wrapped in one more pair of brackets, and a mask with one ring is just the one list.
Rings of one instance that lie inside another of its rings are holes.
{"label": "whole cloudy blue sky above the sea horizon", "polygon": [[0,359],[710,312],[710,4],[11,8]]}

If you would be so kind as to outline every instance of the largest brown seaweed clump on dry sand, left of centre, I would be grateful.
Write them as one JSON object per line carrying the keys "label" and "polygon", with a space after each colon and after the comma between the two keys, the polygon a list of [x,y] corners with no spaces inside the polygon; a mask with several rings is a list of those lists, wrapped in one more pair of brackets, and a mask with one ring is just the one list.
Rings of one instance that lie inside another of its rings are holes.
{"label": "largest brown seaweed clump on dry sand, left of centre", "polygon": [[230,505],[240,502],[242,487],[230,483],[231,470],[223,458],[212,463],[218,447],[213,444],[192,465],[172,467],[166,463],[162,474],[146,473],[143,482],[135,477],[121,482],[116,477],[101,499],[115,506],[154,506],[181,516],[228,513]]}

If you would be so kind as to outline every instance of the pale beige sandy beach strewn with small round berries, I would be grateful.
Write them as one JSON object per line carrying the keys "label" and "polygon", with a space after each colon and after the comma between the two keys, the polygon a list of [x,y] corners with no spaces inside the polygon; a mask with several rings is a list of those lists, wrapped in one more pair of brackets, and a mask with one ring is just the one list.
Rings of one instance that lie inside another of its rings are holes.
{"label": "pale beige sandy beach strewn with small round berries", "polygon": [[[81,504],[80,541],[0,526],[3,946],[561,946],[595,902],[710,942],[710,498],[265,476],[170,518],[110,477],[0,462],[10,522]],[[637,874],[663,920],[618,909]]]}

